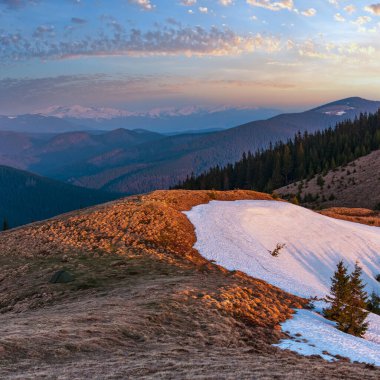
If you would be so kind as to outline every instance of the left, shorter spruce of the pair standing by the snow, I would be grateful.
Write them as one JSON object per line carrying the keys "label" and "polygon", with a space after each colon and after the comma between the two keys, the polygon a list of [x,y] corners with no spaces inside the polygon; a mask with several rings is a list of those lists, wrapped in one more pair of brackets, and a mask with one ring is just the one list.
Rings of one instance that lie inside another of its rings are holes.
{"label": "left, shorter spruce of the pair standing by the snow", "polygon": [[341,260],[337,265],[334,276],[331,278],[330,294],[325,297],[325,301],[330,304],[330,307],[323,309],[326,318],[339,323],[345,304],[350,296],[349,282],[347,268]]}

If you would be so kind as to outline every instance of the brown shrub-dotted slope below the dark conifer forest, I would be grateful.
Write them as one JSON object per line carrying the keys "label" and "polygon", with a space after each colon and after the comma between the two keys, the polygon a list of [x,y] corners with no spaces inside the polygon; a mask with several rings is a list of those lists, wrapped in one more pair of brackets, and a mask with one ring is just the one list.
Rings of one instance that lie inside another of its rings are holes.
{"label": "brown shrub-dotted slope below the dark conifer forest", "polygon": [[[275,192],[297,196],[308,207],[359,207],[380,211],[380,150],[328,171],[294,182]],[[375,212],[376,214],[376,212]]]}

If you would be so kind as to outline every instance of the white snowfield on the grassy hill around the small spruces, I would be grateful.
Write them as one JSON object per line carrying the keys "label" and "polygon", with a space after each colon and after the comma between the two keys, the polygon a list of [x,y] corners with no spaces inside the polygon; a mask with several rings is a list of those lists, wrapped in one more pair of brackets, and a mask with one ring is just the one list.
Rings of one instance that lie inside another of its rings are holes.
{"label": "white snowfield on the grassy hill around the small spruces", "polygon": [[[378,227],[328,218],[277,201],[212,201],[185,214],[195,227],[194,247],[227,269],[243,271],[302,297],[324,297],[337,263],[342,259],[352,271],[358,261],[367,292],[380,293],[375,279],[380,273]],[[273,257],[269,251],[278,243],[285,247]],[[339,332],[314,312],[301,310],[283,328],[290,335],[301,333],[308,342],[287,340],[280,346],[306,355],[328,351],[380,365],[380,318],[370,315],[369,322],[364,340]]]}

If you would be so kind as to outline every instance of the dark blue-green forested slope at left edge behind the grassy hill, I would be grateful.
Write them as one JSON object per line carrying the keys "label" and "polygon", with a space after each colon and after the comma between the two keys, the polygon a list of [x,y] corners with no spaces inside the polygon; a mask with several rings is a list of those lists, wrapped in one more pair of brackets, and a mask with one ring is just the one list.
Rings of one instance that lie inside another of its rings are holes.
{"label": "dark blue-green forested slope at left edge behind the grassy hill", "polygon": [[114,194],[0,166],[0,230],[4,220],[9,227],[16,227],[115,198]]}

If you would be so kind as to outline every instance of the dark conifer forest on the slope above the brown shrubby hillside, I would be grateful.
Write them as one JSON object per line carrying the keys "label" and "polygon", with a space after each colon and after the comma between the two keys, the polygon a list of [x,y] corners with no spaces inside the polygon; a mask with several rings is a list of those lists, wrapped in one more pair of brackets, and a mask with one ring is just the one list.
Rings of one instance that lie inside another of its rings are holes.
{"label": "dark conifer forest on the slope above the brown shrubby hillside", "polygon": [[380,110],[360,114],[315,133],[300,132],[287,142],[271,144],[241,160],[188,176],[175,188],[188,190],[248,189],[271,193],[295,181],[310,179],[380,148]]}

